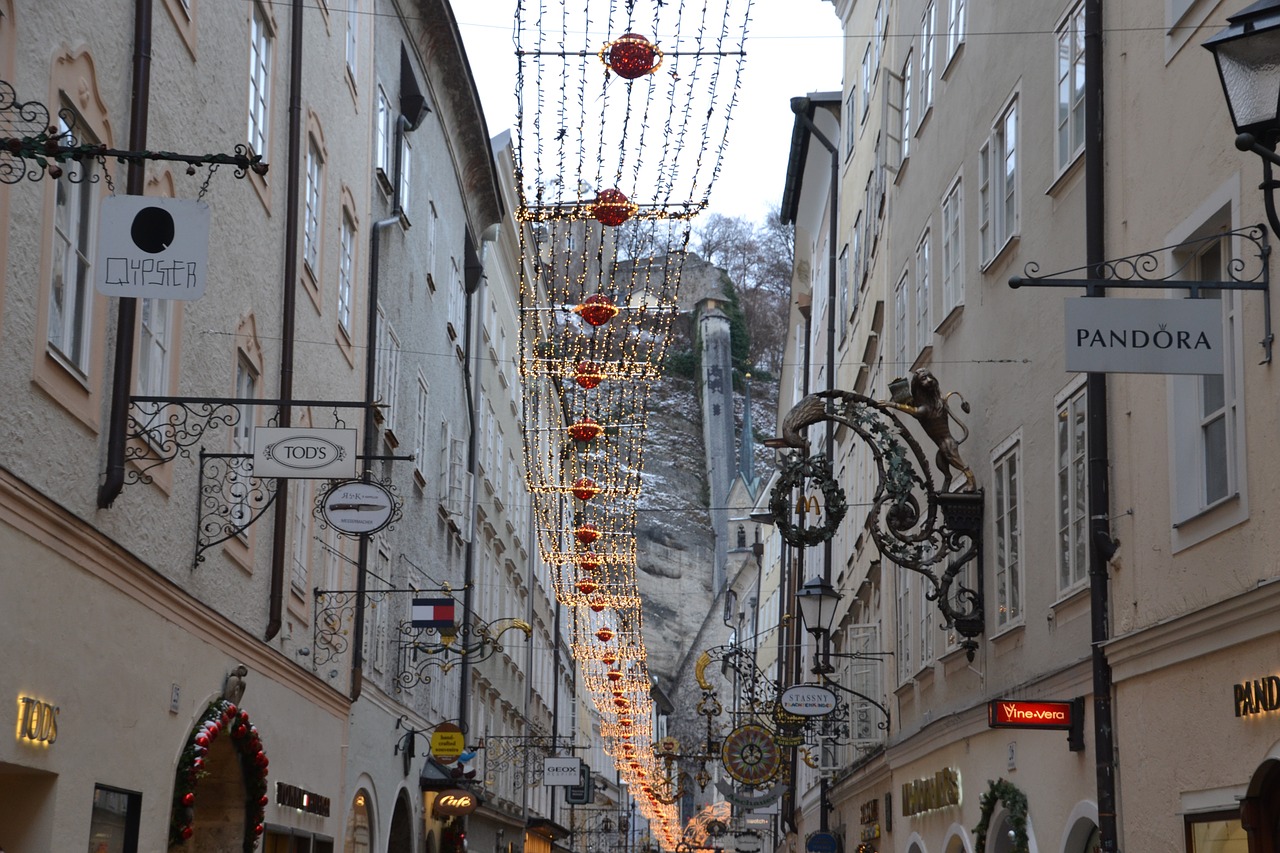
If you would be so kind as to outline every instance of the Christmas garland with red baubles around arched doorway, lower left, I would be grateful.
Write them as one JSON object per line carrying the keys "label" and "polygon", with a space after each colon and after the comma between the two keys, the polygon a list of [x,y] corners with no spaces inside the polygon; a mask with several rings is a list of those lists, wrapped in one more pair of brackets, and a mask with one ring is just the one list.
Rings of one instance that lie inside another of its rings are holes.
{"label": "Christmas garland with red baubles around arched doorway, lower left", "polygon": [[266,818],[266,753],[248,713],[227,699],[211,702],[191,730],[178,760],[173,785],[173,811],[169,817],[169,847],[182,847],[195,830],[196,788],[209,774],[205,756],[210,744],[227,733],[239,757],[244,779],[244,853],[253,853]]}

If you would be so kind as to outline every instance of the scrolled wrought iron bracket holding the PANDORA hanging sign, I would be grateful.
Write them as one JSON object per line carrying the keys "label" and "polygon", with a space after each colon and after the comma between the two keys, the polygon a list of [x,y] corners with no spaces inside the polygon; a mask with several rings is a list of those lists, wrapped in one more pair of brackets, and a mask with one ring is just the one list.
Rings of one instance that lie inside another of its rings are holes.
{"label": "scrolled wrought iron bracket holding the PANDORA hanging sign", "polygon": [[[1226,261],[1226,280],[1190,280],[1179,278],[1187,272],[1197,256],[1197,248],[1207,247],[1224,237],[1240,240],[1245,246],[1252,246],[1251,254],[1242,252],[1239,257]],[[1175,252],[1185,254],[1185,260],[1179,260]],[[1161,273],[1162,257],[1172,257],[1170,269]],[[1174,246],[1153,248],[1151,251],[1105,260],[1100,264],[1076,266],[1060,273],[1038,275],[1039,265],[1030,261],[1023,268],[1021,275],[1009,279],[1009,286],[1018,287],[1085,287],[1107,289],[1110,287],[1124,287],[1134,289],[1169,289],[1180,288],[1188,291],[1192,298],[1199,298],[1201,291],[1260,291],[1262,293],[1262,323],[1263,333],[1258,343],[1262,346],[1262,361],[1258,364],[1271,364],[1271,347],[1275,343],[1275,334],[1271,332],[1271,246],[1267,242],[1267,227],[1263,224],[1248,225],[1234,231],[1210,234],[1187,240]],[[1080,278],[1080,273],[1093,272],[1097,278]]]}

